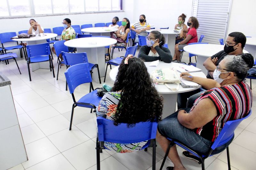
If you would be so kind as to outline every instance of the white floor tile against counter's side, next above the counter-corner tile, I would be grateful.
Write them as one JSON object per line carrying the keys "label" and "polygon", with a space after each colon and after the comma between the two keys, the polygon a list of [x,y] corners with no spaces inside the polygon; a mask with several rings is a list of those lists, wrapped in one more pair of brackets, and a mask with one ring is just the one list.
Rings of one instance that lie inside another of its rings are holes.
{"label": "white floor tile against counter's side, next above the counter-corner tile", "polygon": [[24,144],[29,144],[45,137],[44,133],[36,126],[36,124],[26,126],[24,128],[21,128],[20,130]]}

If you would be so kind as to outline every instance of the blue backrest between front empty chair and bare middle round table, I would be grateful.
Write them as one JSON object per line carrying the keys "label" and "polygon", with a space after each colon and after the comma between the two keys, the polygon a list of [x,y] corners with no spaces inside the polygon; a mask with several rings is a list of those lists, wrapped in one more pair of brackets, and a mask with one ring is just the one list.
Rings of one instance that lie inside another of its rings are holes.
{"label": "blue backrest between front empty chair and bare middle round table", "polygon": [[86,53],[67,53],[62,51],[61,55],[66,65],[89,63]]}

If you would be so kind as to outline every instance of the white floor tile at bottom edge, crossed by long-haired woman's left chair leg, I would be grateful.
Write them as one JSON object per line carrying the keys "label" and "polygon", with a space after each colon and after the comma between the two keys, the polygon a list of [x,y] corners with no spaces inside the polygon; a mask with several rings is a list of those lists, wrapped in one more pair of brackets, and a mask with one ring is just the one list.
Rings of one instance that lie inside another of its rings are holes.
{"label": "white floor tile at bottom edge, crossed by long-haired woman's left chair leg", "polygon": [[[92,140],[88,140],[78,146],[75,146],[62,154],[77,169],[84,170],[96,164],[96,144]],[[106,151],[100,153],[100,160],[110,157]]]}

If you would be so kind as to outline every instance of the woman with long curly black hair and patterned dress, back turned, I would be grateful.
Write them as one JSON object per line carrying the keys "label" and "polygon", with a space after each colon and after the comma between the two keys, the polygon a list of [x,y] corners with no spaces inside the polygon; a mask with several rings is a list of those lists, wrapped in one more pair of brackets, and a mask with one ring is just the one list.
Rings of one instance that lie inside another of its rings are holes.
{"label": "woman with long curly black hair and patterned dress, back turned", "polygon": [[[158,94],[143,61],[128,57],[119,66],[116,81],[111,92],[107,92],[96,108],[98,116],[114,121],[118,126],[127,123],[128,127],[138,122],[156,121],[162,117],[163,98]],[[104,146],[115,152],[140,150],[148,141],[132,144],[105,142]]]}

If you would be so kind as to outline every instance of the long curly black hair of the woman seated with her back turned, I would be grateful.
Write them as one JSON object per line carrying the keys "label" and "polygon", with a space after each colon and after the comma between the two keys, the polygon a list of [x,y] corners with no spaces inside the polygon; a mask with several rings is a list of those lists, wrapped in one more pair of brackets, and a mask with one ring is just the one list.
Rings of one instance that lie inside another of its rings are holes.
{"label": "long curly black hair of the woman seated with her back turned", "polygon": [[140,58],[125,58],[119,66],[116,81],[111,91],[120,91],[114,124],[127,123],[128,127],[138,122],[162,119],[163,98],[153,86],[147,67]]}

